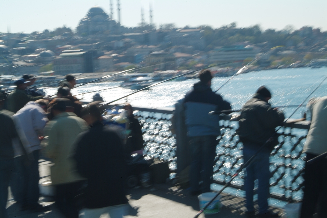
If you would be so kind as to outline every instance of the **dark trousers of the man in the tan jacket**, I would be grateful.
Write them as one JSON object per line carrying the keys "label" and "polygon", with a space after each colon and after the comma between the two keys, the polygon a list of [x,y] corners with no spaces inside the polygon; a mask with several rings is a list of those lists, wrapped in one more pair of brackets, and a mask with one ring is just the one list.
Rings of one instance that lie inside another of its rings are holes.
{"label": "dark trousers of the man in the tan jacket", "polygon": [[56,205],[67,218],[78,218],[78,208],[75,196],[82,182],[72,182],[56,185]]}

